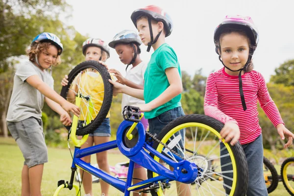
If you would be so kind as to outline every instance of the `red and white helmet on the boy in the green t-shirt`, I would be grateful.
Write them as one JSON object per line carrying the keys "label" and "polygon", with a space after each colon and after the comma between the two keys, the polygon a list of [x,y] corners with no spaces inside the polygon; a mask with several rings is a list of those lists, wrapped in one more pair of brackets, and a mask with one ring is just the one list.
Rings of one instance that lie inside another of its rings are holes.
{"label": "red and white helmet on the boy in the green t-shirt", "polygon": [[164,24],[164,28],[166,31],[166,35],[165,35],[166,37],[168,37],[172,33],[172,27],[173,27],[172,19],[168,15],[168,13],[166,13],[162,8],[160,8],[156,5],[148,5],[147,7],[139,8],[139,9],[133,11],[133,13],[131,15],[131,20],[133,21],[136,28],[137,28],[137,19],[140,16],[147,16],[147,18],[148,18],[151,41],[148,43],[147,51],[150,51],[151,45],[155,44],[157,42],[157,39],[161,34],[161,31],[160,31],[153,41],[151,19],[153,19],[155,21],[160,21]]}

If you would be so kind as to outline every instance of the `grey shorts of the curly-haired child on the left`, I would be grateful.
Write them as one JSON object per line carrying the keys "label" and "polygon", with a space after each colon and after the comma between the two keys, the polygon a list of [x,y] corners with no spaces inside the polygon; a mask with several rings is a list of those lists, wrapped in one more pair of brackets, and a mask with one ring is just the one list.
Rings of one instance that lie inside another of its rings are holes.
{"label": "grey shorts of the curly-haired child on the left", "polygon": [[31,168],[48,162],[48,151],[41,119],[30,117],[20,122],[7,122],[9,132],[20,147],[25,165]]}

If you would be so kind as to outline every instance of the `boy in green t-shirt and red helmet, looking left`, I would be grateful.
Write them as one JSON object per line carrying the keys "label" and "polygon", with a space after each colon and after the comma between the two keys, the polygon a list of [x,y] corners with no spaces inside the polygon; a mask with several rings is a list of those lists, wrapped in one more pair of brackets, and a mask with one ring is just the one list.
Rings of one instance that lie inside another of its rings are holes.
{"label": "boy in green t-shirt and red helmet, looking left", "polygon": [[[109,81],[114,85],[115,92],[145,100],[146,104],[137,106],[145,111],[149,132],[158,135],[166,124],[185,115],[180,102],[183,87],[179,62],[172,47],[165,43],[165,37],[172,32],[172,20],[155,5],[135,10],[131,19],[143,44],[148,46],[147,51],[151,46],[154,49],[144,75],[144,90]],[[185,138],[183,131],[182,138]],[[178,193],[189,195],[182,191],[184,189],[190,192],[189,185],[177,182]]]}

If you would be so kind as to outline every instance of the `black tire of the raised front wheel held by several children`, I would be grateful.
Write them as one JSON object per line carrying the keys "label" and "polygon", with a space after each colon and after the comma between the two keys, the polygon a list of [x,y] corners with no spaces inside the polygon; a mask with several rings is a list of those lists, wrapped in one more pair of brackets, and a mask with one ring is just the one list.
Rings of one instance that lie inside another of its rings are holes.
{"label": "black tire of the raised front wheel held by several children", "polygon": [[[104,121],[104,119],[106,118],[106,116],[109,112],[109,109],[110,109],[110,106],[112,103],[112,96],[113,96],[113,85],[108,81],[108,79],[111,79],[110,74],[108,73],[107,69],[103,65],[98,63],[97,61],[93,61],[93,60],[84,61],[84,62],[80,63],[79,65],[77,65],[69,73],[68,85],[63,86],[61,89],[61,93],[60,93],[61,97],[65,98],[65,99],[69,99],[68,93],[70,90],[72,90],[72,89],[70,89],[72,84],[75,85],[78,88],[78,92],[80,92],[81,87],[79,86],[79,84],[77,84],[77,82],[74,83],[74,80],[76,79],[76,77],[79,77],[78,74],[82,75],[83,73],[86,73],[90,69],[91,69],[91,72],[94,72],[94,73],[99,74],[101,76],[103,86],[104,86],[104,91],[101,93],[103,93],[104,95],[103,95],[103,101],[102,101],[101,107],[100,107],[95,119],[91,120],[91,123],[88,123],[86,126],[81,125],[81,126],[77,127],[76,135],[81,135],[81,136],[92,133]],[[74,92],[74,93],[77,93],[77,92]],[[87,98],[90,98],[90,100],[91,100],[91,95],[87,95],[87,96],[88,96]],[[73,100],[71,100],[71,101],[73,102]],[[90,103],[89,103],[89,105],[90,105]],[[93,105],[91,105],[91,106],[93,108],[95,107]],[[91,106],[89,106],[89,107],[91,107]],[[85,121],[85,117],[83,120]],[[66,128],[68,130],[70,130],[70,126],[67,126]]]}

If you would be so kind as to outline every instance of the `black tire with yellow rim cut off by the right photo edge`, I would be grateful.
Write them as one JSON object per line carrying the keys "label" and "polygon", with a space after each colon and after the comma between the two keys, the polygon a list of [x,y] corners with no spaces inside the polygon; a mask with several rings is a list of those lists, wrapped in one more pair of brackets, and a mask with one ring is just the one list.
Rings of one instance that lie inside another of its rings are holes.
{"label": "black tire with yellow rim cut off by the right photo edge", "polygon": [[292,187],[289,182],[289,177],[292,177],[292,180],[293,180],[293,174],[287,174],[287,168],[292,163],[294,164],[294,157],[290,157],[282,163],[281,177],[282,177],[282,181],[283,181],[285,189],[288,191],[288,193],[291,196],[294,196],[294,187]]}

